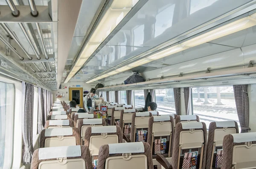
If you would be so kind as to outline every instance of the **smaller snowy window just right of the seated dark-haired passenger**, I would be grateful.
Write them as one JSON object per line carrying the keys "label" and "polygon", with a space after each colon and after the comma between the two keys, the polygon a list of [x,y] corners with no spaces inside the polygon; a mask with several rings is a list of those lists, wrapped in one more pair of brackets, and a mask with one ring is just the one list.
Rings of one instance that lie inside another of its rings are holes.
{"label": "smaller snowy window just right of the seated dark-haired passenger", "polygon": [[157,103],[159,114],[176,114],[173,88],[156,89],[155,102]]}

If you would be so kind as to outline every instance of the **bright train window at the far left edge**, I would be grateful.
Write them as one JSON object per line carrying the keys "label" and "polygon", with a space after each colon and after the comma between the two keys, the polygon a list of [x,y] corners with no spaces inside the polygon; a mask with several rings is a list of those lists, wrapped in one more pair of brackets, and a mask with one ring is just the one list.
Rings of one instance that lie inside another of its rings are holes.
{"label": "bright train window at the far left edge", "polygon": [[13,158],[14,85],[0,82],[0,98],[0,169],[6,169]]}

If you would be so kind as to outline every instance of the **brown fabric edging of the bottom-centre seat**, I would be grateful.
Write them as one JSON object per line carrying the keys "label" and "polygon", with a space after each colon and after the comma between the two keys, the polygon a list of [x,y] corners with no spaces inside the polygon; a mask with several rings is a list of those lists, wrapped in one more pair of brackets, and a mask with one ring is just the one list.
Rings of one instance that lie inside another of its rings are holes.
{"label": "brown fabric edging of the bottom-centre seat", "polygon": [[[150,146],[148,143],[143,143],[143,144],[145,149],[144,153],[131,153],[131,155],[144,154],[145,156],[147,156],[148,169],[154,169]],[[113,156],[122,156],[122,154],[109,154],[108,144],[101,146],[99,149],[99,161],[98,161],[97,169],[105,169],[105,161],[107,160],[107,158],[113,157]],[[122,166],[120,166],[120,168],[122,168]]]}

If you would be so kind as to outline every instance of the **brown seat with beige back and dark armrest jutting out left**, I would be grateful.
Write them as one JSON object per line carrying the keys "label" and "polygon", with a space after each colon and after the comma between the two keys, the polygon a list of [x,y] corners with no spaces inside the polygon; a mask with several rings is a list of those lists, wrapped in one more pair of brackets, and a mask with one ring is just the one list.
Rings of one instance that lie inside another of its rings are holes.
{"label": "brown seat with beige back and dark armrest jutting out left", "polygon": [[[166,169],[193,167],[205,169],[206,166],[207,129],[204,122],[177,123],[172,149],[172,160],[167,161],[163,155],[157,155],[157,162]],[[193,153],[194,152],[194,153]],[[196,158],[192,158],[196,156]]]}

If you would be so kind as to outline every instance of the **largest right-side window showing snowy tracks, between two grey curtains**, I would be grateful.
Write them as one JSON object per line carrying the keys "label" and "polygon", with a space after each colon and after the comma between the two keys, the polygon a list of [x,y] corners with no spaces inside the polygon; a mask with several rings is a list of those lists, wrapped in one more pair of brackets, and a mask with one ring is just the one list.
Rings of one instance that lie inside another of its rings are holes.
{"label": "largest right-side window showing snowy tracks, between two grey curtains", "polygon": [[240,124],[233,86],[192,88],[193,114],[205,122],[234,120]]}

